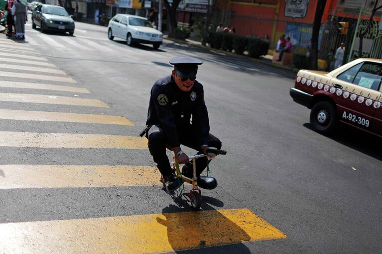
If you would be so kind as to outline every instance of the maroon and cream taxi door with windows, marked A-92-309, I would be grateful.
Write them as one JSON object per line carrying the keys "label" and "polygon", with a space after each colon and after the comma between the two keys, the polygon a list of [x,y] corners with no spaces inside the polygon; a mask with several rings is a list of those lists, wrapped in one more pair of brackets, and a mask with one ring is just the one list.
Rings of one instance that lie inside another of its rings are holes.
{"label": "maroon and cream taxi door with windows, marked A-92-309", "polygon": [[361,62],[330,81],[341,122],[374,132],[375,103],[381,99],[379,68],[378,63]]}

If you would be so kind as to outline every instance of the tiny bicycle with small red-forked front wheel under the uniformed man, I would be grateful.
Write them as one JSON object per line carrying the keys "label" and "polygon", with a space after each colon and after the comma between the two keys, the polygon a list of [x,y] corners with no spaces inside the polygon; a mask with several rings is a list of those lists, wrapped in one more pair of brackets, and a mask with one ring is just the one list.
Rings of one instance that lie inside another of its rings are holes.
{"label": "tiny bicycle with small red-forked front wheel under the uniformed man", "polygon": [[[179,170],[179,164],[175,159],[175,162],[173,162],[173,170],[176,172],[177,177],[182,178],[185,182],[188,182],[192,184],[192,189],[190,190],[190,200],[191,200],[191,207],[194,210],[198,210],[201,206],[201,190],[198,188],[198,177],[196,176],[196,159],[201,158],[201,157],[208,157],[211,160],[216,156],[216,155],[226,155],[227,151],[225,150],[218,150],[216,148],[210,147],[207,150],[207,154],[197,154],[193,156],[189,156],[188,159],[192,160],[192,170],[193,170],[193,177],[187,177],[184,176],[180,173]],[[164,184],[164,179],[163,176],[160,177],[160,181]]]}

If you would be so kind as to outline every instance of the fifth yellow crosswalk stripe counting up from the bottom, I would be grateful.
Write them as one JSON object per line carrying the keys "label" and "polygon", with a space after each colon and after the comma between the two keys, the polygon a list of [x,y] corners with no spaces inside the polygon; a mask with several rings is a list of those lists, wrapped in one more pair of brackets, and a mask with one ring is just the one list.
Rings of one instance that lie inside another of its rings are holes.
{"label": "fifth yellow crosswalk stripe counting up from the bottom", "polygon": [[88,107],[109,107],[105,102],[98,99],[87,99],[87,98],[77,98],[77,97],[68,97],[68,96],[52,96],[52,95],[43,95],[43,94],[28,94],[28,93],[0,92],[0,101],[61,104],[61,105],[88,106]]}

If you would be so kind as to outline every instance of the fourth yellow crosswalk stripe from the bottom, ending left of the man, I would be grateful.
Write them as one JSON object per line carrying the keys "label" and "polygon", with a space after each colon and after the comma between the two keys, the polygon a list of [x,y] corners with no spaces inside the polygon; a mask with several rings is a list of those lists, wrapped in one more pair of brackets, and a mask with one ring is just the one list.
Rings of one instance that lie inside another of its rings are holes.
{"label": "fourth yellow crosswalk stripe from the bottom, ending left of the man", "polygon": [[130,122],[128,119],[126,119],[123,116],[12,110],[12,109],[0,109],[0,119],[25,120],[25,121],[119,124],[119,125],[134,126],[132,122]]}

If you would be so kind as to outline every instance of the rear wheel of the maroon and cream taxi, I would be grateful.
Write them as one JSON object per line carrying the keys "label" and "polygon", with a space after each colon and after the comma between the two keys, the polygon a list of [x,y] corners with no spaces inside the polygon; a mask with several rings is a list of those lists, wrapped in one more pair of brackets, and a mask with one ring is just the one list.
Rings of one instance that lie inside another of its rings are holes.
{"label": "rear wheel of the maroon and cream taxi", "polygon": [[336,108],[328,101],[316,103],[310,111],[310,123],[317,132],[328,134],[335,129],[337,122]]}

